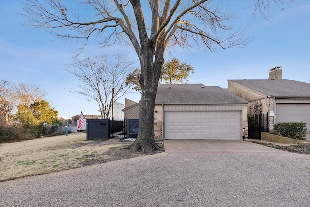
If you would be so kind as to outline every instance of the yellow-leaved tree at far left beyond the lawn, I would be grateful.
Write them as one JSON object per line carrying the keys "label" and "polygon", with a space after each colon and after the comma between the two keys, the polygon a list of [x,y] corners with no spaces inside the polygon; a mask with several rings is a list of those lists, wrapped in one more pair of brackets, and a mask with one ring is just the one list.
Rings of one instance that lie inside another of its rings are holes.
{"label": "yellow-leaved tree at far left beyond the lawn", "polygon": [[45,100],[34,102],[29,106],[17,106],[16,119],[24,128],[32,131],[36,136],[42,136],[45,125],[57,125],[58,111]]}

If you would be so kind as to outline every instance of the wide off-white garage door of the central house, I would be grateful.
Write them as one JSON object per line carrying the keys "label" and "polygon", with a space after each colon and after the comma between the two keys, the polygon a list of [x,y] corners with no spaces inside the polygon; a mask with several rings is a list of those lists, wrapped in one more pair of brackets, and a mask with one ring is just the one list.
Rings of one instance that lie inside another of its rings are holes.
{"label": "wide off-white garage door of the central house", "polygon": [[241,112],[165,111],[164,137],[241,140]]}

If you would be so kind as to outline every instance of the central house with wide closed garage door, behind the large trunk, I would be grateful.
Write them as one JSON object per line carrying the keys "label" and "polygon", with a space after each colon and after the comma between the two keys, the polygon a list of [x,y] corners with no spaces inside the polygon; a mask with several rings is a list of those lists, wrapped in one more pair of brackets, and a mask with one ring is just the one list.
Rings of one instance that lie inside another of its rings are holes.
{"label": "central house with wide closed garage door, behind the large trunk", "polygon": [[[222,139],[248,137],[248,102],[227,89],[203,84],[159,84],[155,101],[155,139]],[[139,103],[124,110],[139,119]]]}

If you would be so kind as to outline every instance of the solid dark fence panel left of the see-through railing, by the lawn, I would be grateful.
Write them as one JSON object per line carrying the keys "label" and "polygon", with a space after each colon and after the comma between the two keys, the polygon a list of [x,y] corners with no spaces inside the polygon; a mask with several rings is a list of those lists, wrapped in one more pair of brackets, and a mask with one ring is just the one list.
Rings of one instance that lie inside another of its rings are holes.
{"label": "solid dark fence panel left of the see-through railing, by the lawn", "polygon": [[109,139],[109,119],[87,119],[86,139]]}

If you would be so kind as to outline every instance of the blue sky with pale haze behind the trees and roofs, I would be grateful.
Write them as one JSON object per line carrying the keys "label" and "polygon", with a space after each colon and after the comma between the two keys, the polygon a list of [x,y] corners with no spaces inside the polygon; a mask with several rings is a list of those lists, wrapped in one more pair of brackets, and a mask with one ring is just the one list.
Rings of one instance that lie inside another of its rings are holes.
{"label": "blue sky with pale haze behind the trees and roofs", "polygon": [[[189,83],[227,88],[227,79],[267,79],[268,70],[283,67],[283,78],[309,83],[310,80],[310,0],[295,1],[290,7],[274,7],[269,20],[251,19],[252,10],[243,0],[225,2],[228,12],[235,12],[233,25],[245,29],[253,41],[244,48],[191,51],[176,49],[166,59],[178,58],[191,64],[195,74]],[[245,9],[237,9],[238,4]],[[78,81],[63,67],[77,54],[80,44],[63,42],[48,31],[23,25],[20,3],[0,0],[0,79],[11,83],[35,84],[47,93],[47,100],[63,118],[79,114],[99,115],[99,107],[74,92]],[[137,60],[136,54],[128,56]],[[122,53],[124,49],[113,46],[102,49],[92,41],[82,55]],[[124,98],[138,102],[139,93],[129,93]]]}

